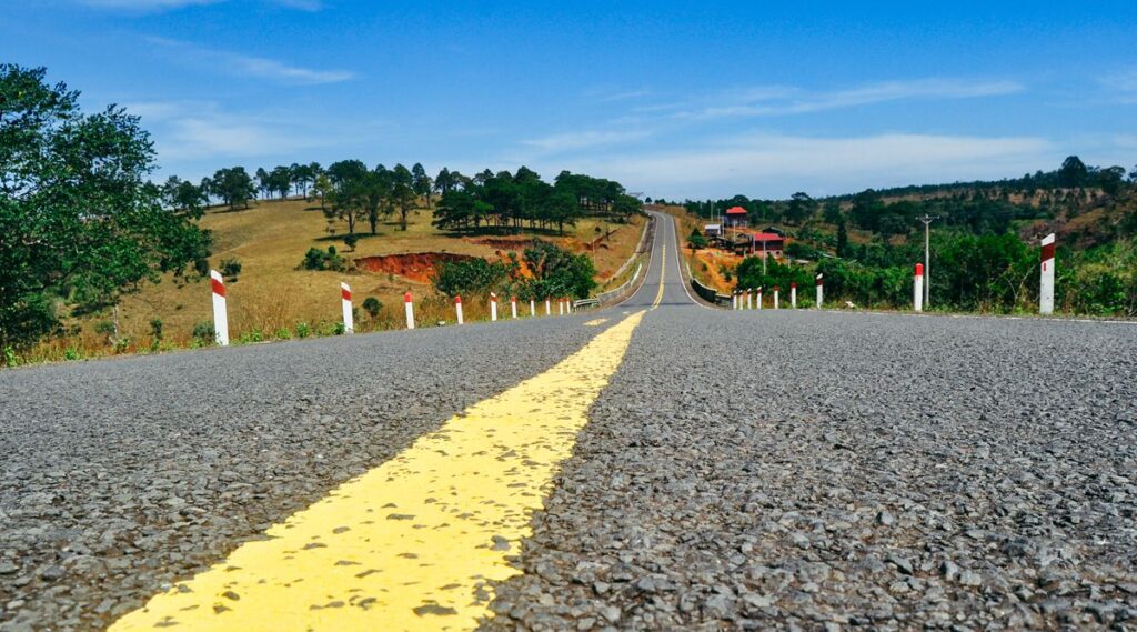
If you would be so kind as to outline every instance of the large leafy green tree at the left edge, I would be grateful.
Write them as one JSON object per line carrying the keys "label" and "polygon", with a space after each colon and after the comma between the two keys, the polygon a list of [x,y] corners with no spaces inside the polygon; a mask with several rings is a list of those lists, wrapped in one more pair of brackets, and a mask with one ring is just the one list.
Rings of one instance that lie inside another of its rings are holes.
{"label": "large leafy green tree at the left edge", "polygon": [[0,348],[51,332],[61,305],[113,305],[208,256],[194,211],[163,208],[138,117],[84,115],[43,68],[0,65]]}

